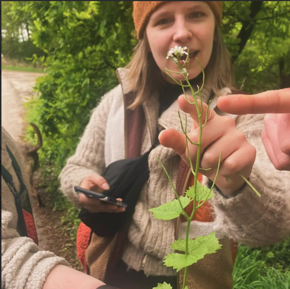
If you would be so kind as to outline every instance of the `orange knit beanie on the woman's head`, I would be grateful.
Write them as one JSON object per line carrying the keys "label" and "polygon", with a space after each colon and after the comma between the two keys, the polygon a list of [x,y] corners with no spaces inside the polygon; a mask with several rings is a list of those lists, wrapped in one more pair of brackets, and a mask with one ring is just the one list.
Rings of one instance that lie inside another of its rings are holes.
{"label": "orange knit beanie on the woman's head", "polygon": [[[143,32],[151,14],[163,3],[169,1],[133,1],[133,20],[137,32],[137,39],[143,38]],[[222,22],[222,3],[223,1],[204,1],[209,5],[218,21]]]}

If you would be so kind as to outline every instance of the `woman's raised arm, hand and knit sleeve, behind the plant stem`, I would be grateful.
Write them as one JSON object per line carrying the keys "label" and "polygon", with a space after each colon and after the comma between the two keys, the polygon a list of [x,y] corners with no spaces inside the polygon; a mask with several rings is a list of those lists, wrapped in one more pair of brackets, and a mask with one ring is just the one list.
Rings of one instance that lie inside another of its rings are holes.
{"label": "woman's raised arm, hand and knit sleeve, behind the plant stem", "polygon": [[[195,108],[189,107],[182,98],[178,100],[181,102],[180,108],[194,120],[196,113],[191,109]],[[203,111],[206,111],[206,105],[204,106]],[[211,187],[210,180],[215,176],[222,152],[219,175],[211,199],[216,224],[226,236],[249,246],[273,244],[290,234],[290,172],[277,171],[267,157],[261,140],[263,117],[261,114],[239,116],[236,126],[233,127],[232,120],[225,118],[224,122],[211,112],[202,134],[203,154],[200,165],[203,168],[212,168],[209,171],[200,171],[205,176],[205,186]],[[216,126],[214,121],[218,121],[219,125]],[[199,128],[193,122],[188,134],[193,142],[198,141],[199,133],[196,129]],[[237,133],[237,130],[240,132]],[[171,147],[186,161],[184,134],[166,129],[160,133],[159,140],[161,145]],[[196,146],[190,143],[188,145],[192,161],[195,162]],[[256,148],[256,155],[252,163],[253,147]],[[241,153],[237,154],[237,151]],[[247,162],[251,165],[250,171],[247,171]],[[245,178],[249,178],[261,197],[236,174],[240,172]]]}

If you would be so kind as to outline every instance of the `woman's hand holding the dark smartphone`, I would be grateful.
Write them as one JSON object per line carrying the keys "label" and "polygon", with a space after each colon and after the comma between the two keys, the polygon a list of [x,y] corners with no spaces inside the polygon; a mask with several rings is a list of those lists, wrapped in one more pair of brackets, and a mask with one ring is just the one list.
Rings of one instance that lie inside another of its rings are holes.
{"label": "woman's hand holding the dark smartphone", "polygon": [[[110,189],[106,180],[97,174],[89,175],[84,180],[82,180],[80,187],[99,193],[101,193],[102,190]],[[122,199],[120,198],[118,198],[117,200],[122,202]],[[103,201],[87,197],[86,195],[81,193],[79,193],[79,202],[84,206],[84,208],[90,211],[90,213],[99,213],[99,212],[122,213],[126,210],[124,207],[111,205]]]}

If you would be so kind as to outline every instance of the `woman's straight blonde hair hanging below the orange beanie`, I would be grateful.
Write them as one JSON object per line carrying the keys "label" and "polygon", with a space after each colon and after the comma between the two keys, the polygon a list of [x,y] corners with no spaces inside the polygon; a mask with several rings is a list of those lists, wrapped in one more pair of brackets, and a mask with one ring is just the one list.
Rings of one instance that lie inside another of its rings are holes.
{"label": "woman's straight blonde hair hanging below the orange beanie", "polygon": [[[211,86],[214,94],[218,95],[218,91],[223,87],[233,88],[233,73],[231,56],[224,44],[217,21],[214,35],[213,51],[204,72],[206,85]],[[135,93],[135,100],[128,108],[134,109],[141,105],[163,80],[162,72],[150,52],[145,32],[126,68],[128,68],[128,88]]]}

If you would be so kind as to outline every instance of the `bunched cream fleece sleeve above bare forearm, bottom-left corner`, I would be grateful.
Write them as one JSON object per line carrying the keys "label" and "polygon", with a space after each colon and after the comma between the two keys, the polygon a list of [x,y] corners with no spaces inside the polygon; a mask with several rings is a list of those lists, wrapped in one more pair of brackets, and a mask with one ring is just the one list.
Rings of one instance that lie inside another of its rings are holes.
{"label": "bunched cream fleece sleeve above bare forearm, bottom-left corner", "polygon": [[52,252],[39,250],[32,239],[20,237],[12,219],[11,212],[1,210],[1,288],[41,289],[53,267],[68,264]]}

